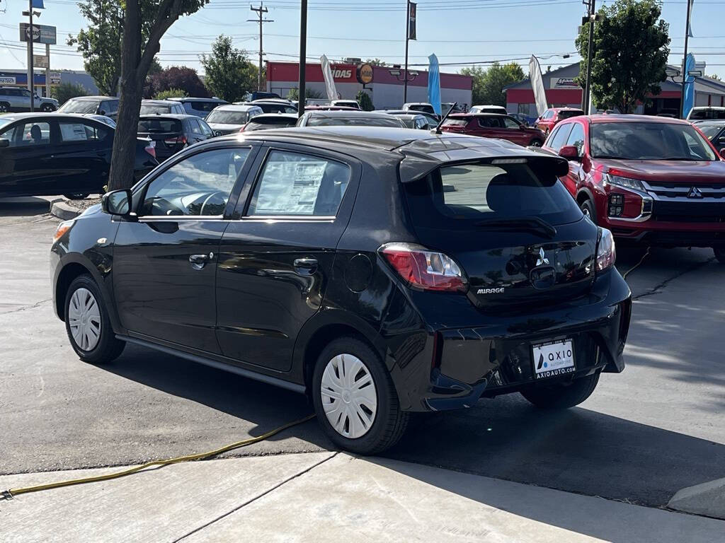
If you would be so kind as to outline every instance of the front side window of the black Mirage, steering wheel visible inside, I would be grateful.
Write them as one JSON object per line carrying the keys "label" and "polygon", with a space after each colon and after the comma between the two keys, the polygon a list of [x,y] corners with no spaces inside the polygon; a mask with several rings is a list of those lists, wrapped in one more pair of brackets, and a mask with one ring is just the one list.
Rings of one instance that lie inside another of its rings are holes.
{"label": "front side window of the black Mirage, steering wheel visible inside", "polygon": [[222,215],[247,156],[249,148],[216,149],[174,164],[146,188],[141,215]]}

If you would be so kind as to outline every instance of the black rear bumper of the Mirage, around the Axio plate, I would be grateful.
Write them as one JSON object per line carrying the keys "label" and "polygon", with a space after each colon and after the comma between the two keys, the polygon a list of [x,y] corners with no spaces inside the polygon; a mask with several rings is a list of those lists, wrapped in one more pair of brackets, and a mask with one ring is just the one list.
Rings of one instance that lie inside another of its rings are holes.
{"label": "black rear bumper of the Mirage, around the Axio plate", "polygon": [[[631,293],[618,272],[608,274],[586,297],[546,311],[517,316],[478,313],[483,317],[480,324],[432,330],[426,348],[412,361],[406,360],[405,367],[398,364],[392,371],[402,408],[440,411],[469,407],[480,397],[594,371],[623,371]],[[603,283],[609,283],[607,292],[601,292]],[[559,339],[573,341],[575,370],[536,379],[531,345]]]}

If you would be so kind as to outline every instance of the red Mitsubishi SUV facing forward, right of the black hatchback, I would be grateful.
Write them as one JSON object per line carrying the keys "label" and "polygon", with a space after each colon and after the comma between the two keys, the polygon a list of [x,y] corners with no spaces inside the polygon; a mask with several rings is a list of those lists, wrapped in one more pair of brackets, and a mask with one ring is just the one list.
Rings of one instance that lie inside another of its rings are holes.
{"label": "red Mitsubishi SUV facing forward, right of the black hatchback", "polygon": [[725,262],[725,161],[688,122],[576,117],[557,125],[544,148],[568,159],[560,180],[619,240],[712,247]]}

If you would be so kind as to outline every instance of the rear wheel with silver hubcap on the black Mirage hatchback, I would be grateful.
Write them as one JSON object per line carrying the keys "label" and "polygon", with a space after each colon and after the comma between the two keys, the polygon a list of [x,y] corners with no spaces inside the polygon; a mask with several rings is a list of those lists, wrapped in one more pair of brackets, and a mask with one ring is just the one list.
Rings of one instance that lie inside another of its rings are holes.
{"label": "rear wheel with silver hubcap on the black Mirage hatchback", "polygon": [[395,445],[409,418],[409,413],[400,410],[397,392],[380,357],[355,337],[334,340],[320,353],[312,374],[312,404],[331,441],[360,455],[373,455]]}

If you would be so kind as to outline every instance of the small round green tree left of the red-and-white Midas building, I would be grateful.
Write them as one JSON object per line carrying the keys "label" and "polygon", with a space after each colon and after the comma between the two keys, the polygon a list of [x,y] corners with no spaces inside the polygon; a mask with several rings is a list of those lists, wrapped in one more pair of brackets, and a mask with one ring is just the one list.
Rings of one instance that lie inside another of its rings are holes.
{"label": "small round green tree left of the red-and-white Midas building", "polygon": [[240,101],[257,88],[257,67],[249,62],[247,51],[232,46],[231,38],[220,35],[212,43],[212,54],[202,54],[204,85],[213,96],[228,102]]}

